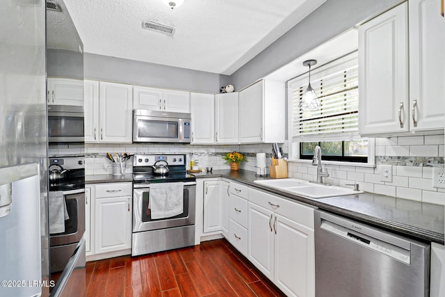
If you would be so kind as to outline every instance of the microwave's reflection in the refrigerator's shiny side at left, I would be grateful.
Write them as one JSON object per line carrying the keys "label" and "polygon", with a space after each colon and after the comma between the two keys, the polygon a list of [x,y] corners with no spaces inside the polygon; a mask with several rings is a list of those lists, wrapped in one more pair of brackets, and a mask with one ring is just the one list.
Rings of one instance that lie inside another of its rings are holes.
{"label": "microwave's reflection in the refrigerator's shiny side at left", "polygon": [[83,106],[48,106],[48,142],[83,143],[85,141]]}

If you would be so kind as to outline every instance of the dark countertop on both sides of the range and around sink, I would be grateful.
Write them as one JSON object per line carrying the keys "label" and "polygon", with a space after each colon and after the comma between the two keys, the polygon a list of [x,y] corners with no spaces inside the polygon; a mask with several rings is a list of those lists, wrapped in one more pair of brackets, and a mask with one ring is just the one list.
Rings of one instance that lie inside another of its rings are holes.
{"label": "dark countertop on both sides of the range and around sink", "polygon": [[[291,200],[304,202],[334,214],[385,228],[391,232],[423,241],[444,244],[444,207],[441,205],[373,193],[321,199],[305,198],[254,183],[256,179],[270,179],[270,177],[257,177],[254,172],[247,170],[213,170],[213,172],[200,172],[194,175],[197,178],[224,177],[232,179],[234,182],[247,184]],[[122,177],[113,175],[86,176],[86,184],[131,181],[131,174]]]}

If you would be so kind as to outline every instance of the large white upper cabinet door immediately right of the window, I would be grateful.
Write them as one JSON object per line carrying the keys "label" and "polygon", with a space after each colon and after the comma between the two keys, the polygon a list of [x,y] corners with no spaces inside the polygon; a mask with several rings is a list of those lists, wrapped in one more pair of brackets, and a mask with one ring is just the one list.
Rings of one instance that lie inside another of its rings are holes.
{"label": "large white upper cabinet door immediately right of the window", "polygon": [[359,27],[359,133],[409,129],[407,3]]}

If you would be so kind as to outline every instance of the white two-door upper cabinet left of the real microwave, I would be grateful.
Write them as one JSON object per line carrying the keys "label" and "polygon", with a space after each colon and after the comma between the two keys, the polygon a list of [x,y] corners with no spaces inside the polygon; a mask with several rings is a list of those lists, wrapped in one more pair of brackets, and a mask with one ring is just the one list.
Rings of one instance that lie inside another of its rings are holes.
{"label": "white two-door upper cabinet left of the real microwave", "polygon": [[85,81],[85,142],[131,143],[131,85]]}

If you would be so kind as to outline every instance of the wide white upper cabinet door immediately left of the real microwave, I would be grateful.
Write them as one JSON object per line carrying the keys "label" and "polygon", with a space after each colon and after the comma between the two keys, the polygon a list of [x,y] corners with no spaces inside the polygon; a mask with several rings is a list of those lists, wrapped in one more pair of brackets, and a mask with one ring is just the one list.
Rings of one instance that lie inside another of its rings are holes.
{"label": "wide white upper cabinet door immediately left of the real microwave", "polygon": [[131,143],[133,128],[132,88],[123,83],[99,83],[100,142]]}

